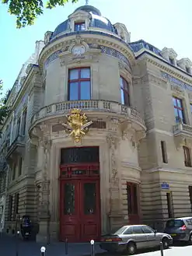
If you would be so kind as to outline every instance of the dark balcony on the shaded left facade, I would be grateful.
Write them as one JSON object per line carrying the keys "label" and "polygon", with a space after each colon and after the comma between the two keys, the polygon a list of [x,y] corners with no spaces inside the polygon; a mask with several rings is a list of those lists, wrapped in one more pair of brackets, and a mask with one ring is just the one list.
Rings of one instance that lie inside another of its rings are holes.
{"label": "dark balcony on the shaded left facade", "polygon": [[25,136],[17,135],[16,139],[7,149],[6,159],[8,159],[12,154],[22,155],[25,149]]}

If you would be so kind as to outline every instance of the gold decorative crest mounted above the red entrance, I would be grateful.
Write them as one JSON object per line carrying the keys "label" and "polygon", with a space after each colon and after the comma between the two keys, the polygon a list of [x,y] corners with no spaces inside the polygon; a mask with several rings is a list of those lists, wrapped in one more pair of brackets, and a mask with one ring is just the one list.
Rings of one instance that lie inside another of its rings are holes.
{"label": "gold decorative crest mounted above the red entrance", "polygon": [[63,125],[66,128],[66,132],[74,138],[75,142],[80,142],[82,136],[88,132],[88,127],[91,124],[93,124],[93,121],[88,121],[86,114],[82,114],[81,110],[75,108],[68,115],[67,124]]}

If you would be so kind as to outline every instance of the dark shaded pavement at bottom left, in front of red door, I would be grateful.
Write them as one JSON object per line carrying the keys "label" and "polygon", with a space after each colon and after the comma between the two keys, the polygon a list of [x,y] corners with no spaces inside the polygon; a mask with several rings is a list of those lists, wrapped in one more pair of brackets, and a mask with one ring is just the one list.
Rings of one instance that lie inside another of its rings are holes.
{"label": "dark shaded pavement at bottom left, in front of red door", "polygon": [[[0,255],[16,256],[16,237],[3,234],[0,237]],[[40,256],[40,247],[46,247],[46,256],[65,256],[65,243],[57,242],[50,245],[38,244],[34,241],[19,240],[18,256]],[[90,255],[90,244],[68,244],[68,256]],[[95,253],[103,254],[105,251],[95,244]]]}

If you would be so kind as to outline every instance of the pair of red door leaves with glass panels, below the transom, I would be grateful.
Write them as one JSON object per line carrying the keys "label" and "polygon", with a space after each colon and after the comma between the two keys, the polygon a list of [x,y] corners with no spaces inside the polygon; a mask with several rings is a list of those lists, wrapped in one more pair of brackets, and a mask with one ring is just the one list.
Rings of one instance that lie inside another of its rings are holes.
{"label": "pair of red door leaves with glass panels, below the transom", "polygon": [[99,240],[99,180],[65,180],[61,181],[60,188],[60,240]]}

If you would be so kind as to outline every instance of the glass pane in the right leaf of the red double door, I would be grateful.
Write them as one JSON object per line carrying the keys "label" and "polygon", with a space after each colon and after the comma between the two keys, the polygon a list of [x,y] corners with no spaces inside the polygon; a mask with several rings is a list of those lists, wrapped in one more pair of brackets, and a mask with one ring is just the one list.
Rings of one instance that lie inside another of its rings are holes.
{"label": "glass pane in the right leaf of the red double door", "polygon": [[96,184],[85,183],[84,184],[84,214],[96,213]]}

